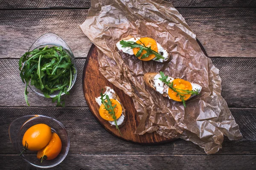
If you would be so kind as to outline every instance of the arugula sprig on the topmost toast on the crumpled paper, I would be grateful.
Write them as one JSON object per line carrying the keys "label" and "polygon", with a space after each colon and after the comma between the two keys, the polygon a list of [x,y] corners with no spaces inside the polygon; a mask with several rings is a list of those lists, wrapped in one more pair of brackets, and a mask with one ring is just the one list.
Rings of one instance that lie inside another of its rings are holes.
{"label": "arugula sprig on the topmost toast on the crumpled paper", "polygon": [[[143,44],[143,42],[141,42],[141,43]],[[138,44],[138,43],[133,42],[133,41],[124,41],[124,40],[121,40],[120,44],[122,45],[122,47],[131,47],[128,50],[131,50],[133,48],[140,48],[140,50],[135,55],[136,57],[140,57],[140,55],[143,52],[143,50],[145,50],[147,53],[143,54],[141,56],[141,59],[144,59],[144,58],[148,57],[151,54],[154,54],[157,57],[157,59],[155,59],[155,60],[164,59],[164,57],[161,54],[159,54],[158,52],[152,50],[151,46],[150,47],[146,47],[145,44],[141,45],[141,44]]]}

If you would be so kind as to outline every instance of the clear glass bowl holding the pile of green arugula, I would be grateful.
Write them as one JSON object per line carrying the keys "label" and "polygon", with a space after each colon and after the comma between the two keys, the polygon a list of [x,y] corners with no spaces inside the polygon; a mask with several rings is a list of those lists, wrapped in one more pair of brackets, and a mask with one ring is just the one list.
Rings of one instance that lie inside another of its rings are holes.
{"label": "clear glass bowl holding the pile of green arugula", "polygon": [[[73,85],[76,82],[76,76],[77,76],[77,67],[76,67],[76,59],[72,53],[72,51],[70,50],[69,46],[67,45],[67,43],[61,39],[61,37],[59,37],[56,34],[52,34],[52,33],[48,33],[48,34],[44,34],[41,37],[39,37],[29,48],[29,51],[34,50],[35,48],[44,48],[46,45],[48,45],[49,47],[52,46],[62,46],[62,48],[67,52],[67,54],[69,54],[70,58],[71,58],[71,62],[73,63],[73,66],[76,70],[75,73],[73,73],[73,80],[71,83],[71,86],[69,87],[69,89],[67,91],[70,91],[70,89],[73,87]],[[35,88],[34,85],[31,85],[29,83],[29,88],[34,91],[36,94],[38,94],[39,96],[44,96],[44,94],[41,92],[40,89]],[[53,94],[50,95],[50,97],[55,97],[59,94],[59,91],[55,91]],[[61,94],[63,95],[65,94],[64,92]]]}

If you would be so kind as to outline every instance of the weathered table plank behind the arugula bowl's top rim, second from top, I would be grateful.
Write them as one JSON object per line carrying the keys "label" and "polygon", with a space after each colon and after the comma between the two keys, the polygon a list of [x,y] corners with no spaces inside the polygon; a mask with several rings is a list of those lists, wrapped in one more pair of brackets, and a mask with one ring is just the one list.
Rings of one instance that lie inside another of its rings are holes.
{"label": "weathered table plank behind the arugula bowl's top rim, second from top", "polygon": [[[179,8],[209,57],[256,57],[256,8]],[[79,25],[87,9],[0,11],[0,58],[19,58],[42,34],[62,37],[76,58],[90,40]]]}

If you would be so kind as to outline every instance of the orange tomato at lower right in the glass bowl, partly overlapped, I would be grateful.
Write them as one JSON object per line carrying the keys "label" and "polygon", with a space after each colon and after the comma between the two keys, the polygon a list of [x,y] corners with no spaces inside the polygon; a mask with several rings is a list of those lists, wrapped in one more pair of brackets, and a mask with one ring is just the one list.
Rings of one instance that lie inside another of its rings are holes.
{"label": "orange tomato at lower right in the glass bowl, partly overlapped", "polygon": [[41,162],[43,161],[43,159],[55,159],[61,152],[61,147],[62,144],[60,137],[57,135],[57,133],[52,133],[52,137],[49,144],[43,149],[39,150],[36,157],[38,159],[41,159]]}

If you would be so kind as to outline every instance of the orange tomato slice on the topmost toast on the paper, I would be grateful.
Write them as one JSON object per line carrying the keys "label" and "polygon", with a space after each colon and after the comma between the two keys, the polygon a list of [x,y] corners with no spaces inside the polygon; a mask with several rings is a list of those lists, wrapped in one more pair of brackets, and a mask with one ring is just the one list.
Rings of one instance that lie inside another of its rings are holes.
{"label": "orange tomato slice on the topmost toast on the paper", "polygon": [[[140,40],[136,41],[137,44],[143,45],[141,42],[143,42],[143,44],[146,47],[150,47],[151,46],[152,50],[158,52],[157,42],[153,38],[143,37]],[[136,55],[137,52],[140,50],[140,48],[133,48],[132,50],[133,50],[134,54]],[[156,57],[154,54],[150,54],[148,57],[141,59],[143,54],[146,54],[146,53],[147,53],[147,51],[143,50],[142,53],[140,54],[140,57],[138,57],[138,59],[143,60],[143,61],[149,61],[149,60],[153,59],[154,57]]]}

